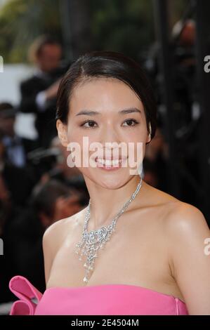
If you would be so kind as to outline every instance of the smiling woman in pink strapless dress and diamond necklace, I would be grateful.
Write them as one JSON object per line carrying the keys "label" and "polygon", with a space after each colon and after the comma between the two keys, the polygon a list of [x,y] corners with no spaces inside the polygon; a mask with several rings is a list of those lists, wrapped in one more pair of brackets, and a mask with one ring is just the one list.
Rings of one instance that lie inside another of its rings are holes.
{"label": "smiling woman in pink strapless dress and diamond necklace", "polygon": [[[18,298],[24,297],[20,287],[29,292],[28,298],[37,297],[38,305],[27,301],[27,311],[210,314],[210,258],[204,244],[210,232],[202,212],[148,185],[138,173],[156,129],[155,100],[138,63],[109,51],[82,55],[60,83],[57,128],[63,146],[74,142],[81,147],[73,161],[81,156],[76,166],[90,202],[44,233],[43,295],[27,279],[11,279]],[[90,149],[84,156],[84,137],[88,147],[98,143],[97,157]],[[109,143],[118,151],[120,143],[140,143],[141,157],[137,147],[133,149],[138,170],[131,173],[131,154],[122,149],[116,157]],[[73,152],[72,147],[68,150]],[[107,150],[111,157],[103,153]],[[91,157],[96,166],[84,166]],[[79,246],[86,254],[78,256]],[[20,310],[17,302],[16,313]]]}

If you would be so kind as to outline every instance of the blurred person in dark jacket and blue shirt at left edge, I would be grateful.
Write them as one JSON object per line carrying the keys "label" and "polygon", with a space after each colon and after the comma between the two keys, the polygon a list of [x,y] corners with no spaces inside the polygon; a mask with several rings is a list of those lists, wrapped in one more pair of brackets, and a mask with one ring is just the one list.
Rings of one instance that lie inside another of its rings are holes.
{"label": "blurred person in dark jacket and blue shirt at left edge", "polygon": [[10,103],[0,103],[1,178],[8,190],[12,206],[24,206],[37,178],[27,160],[36,142],[15,133],[16,110]]}

